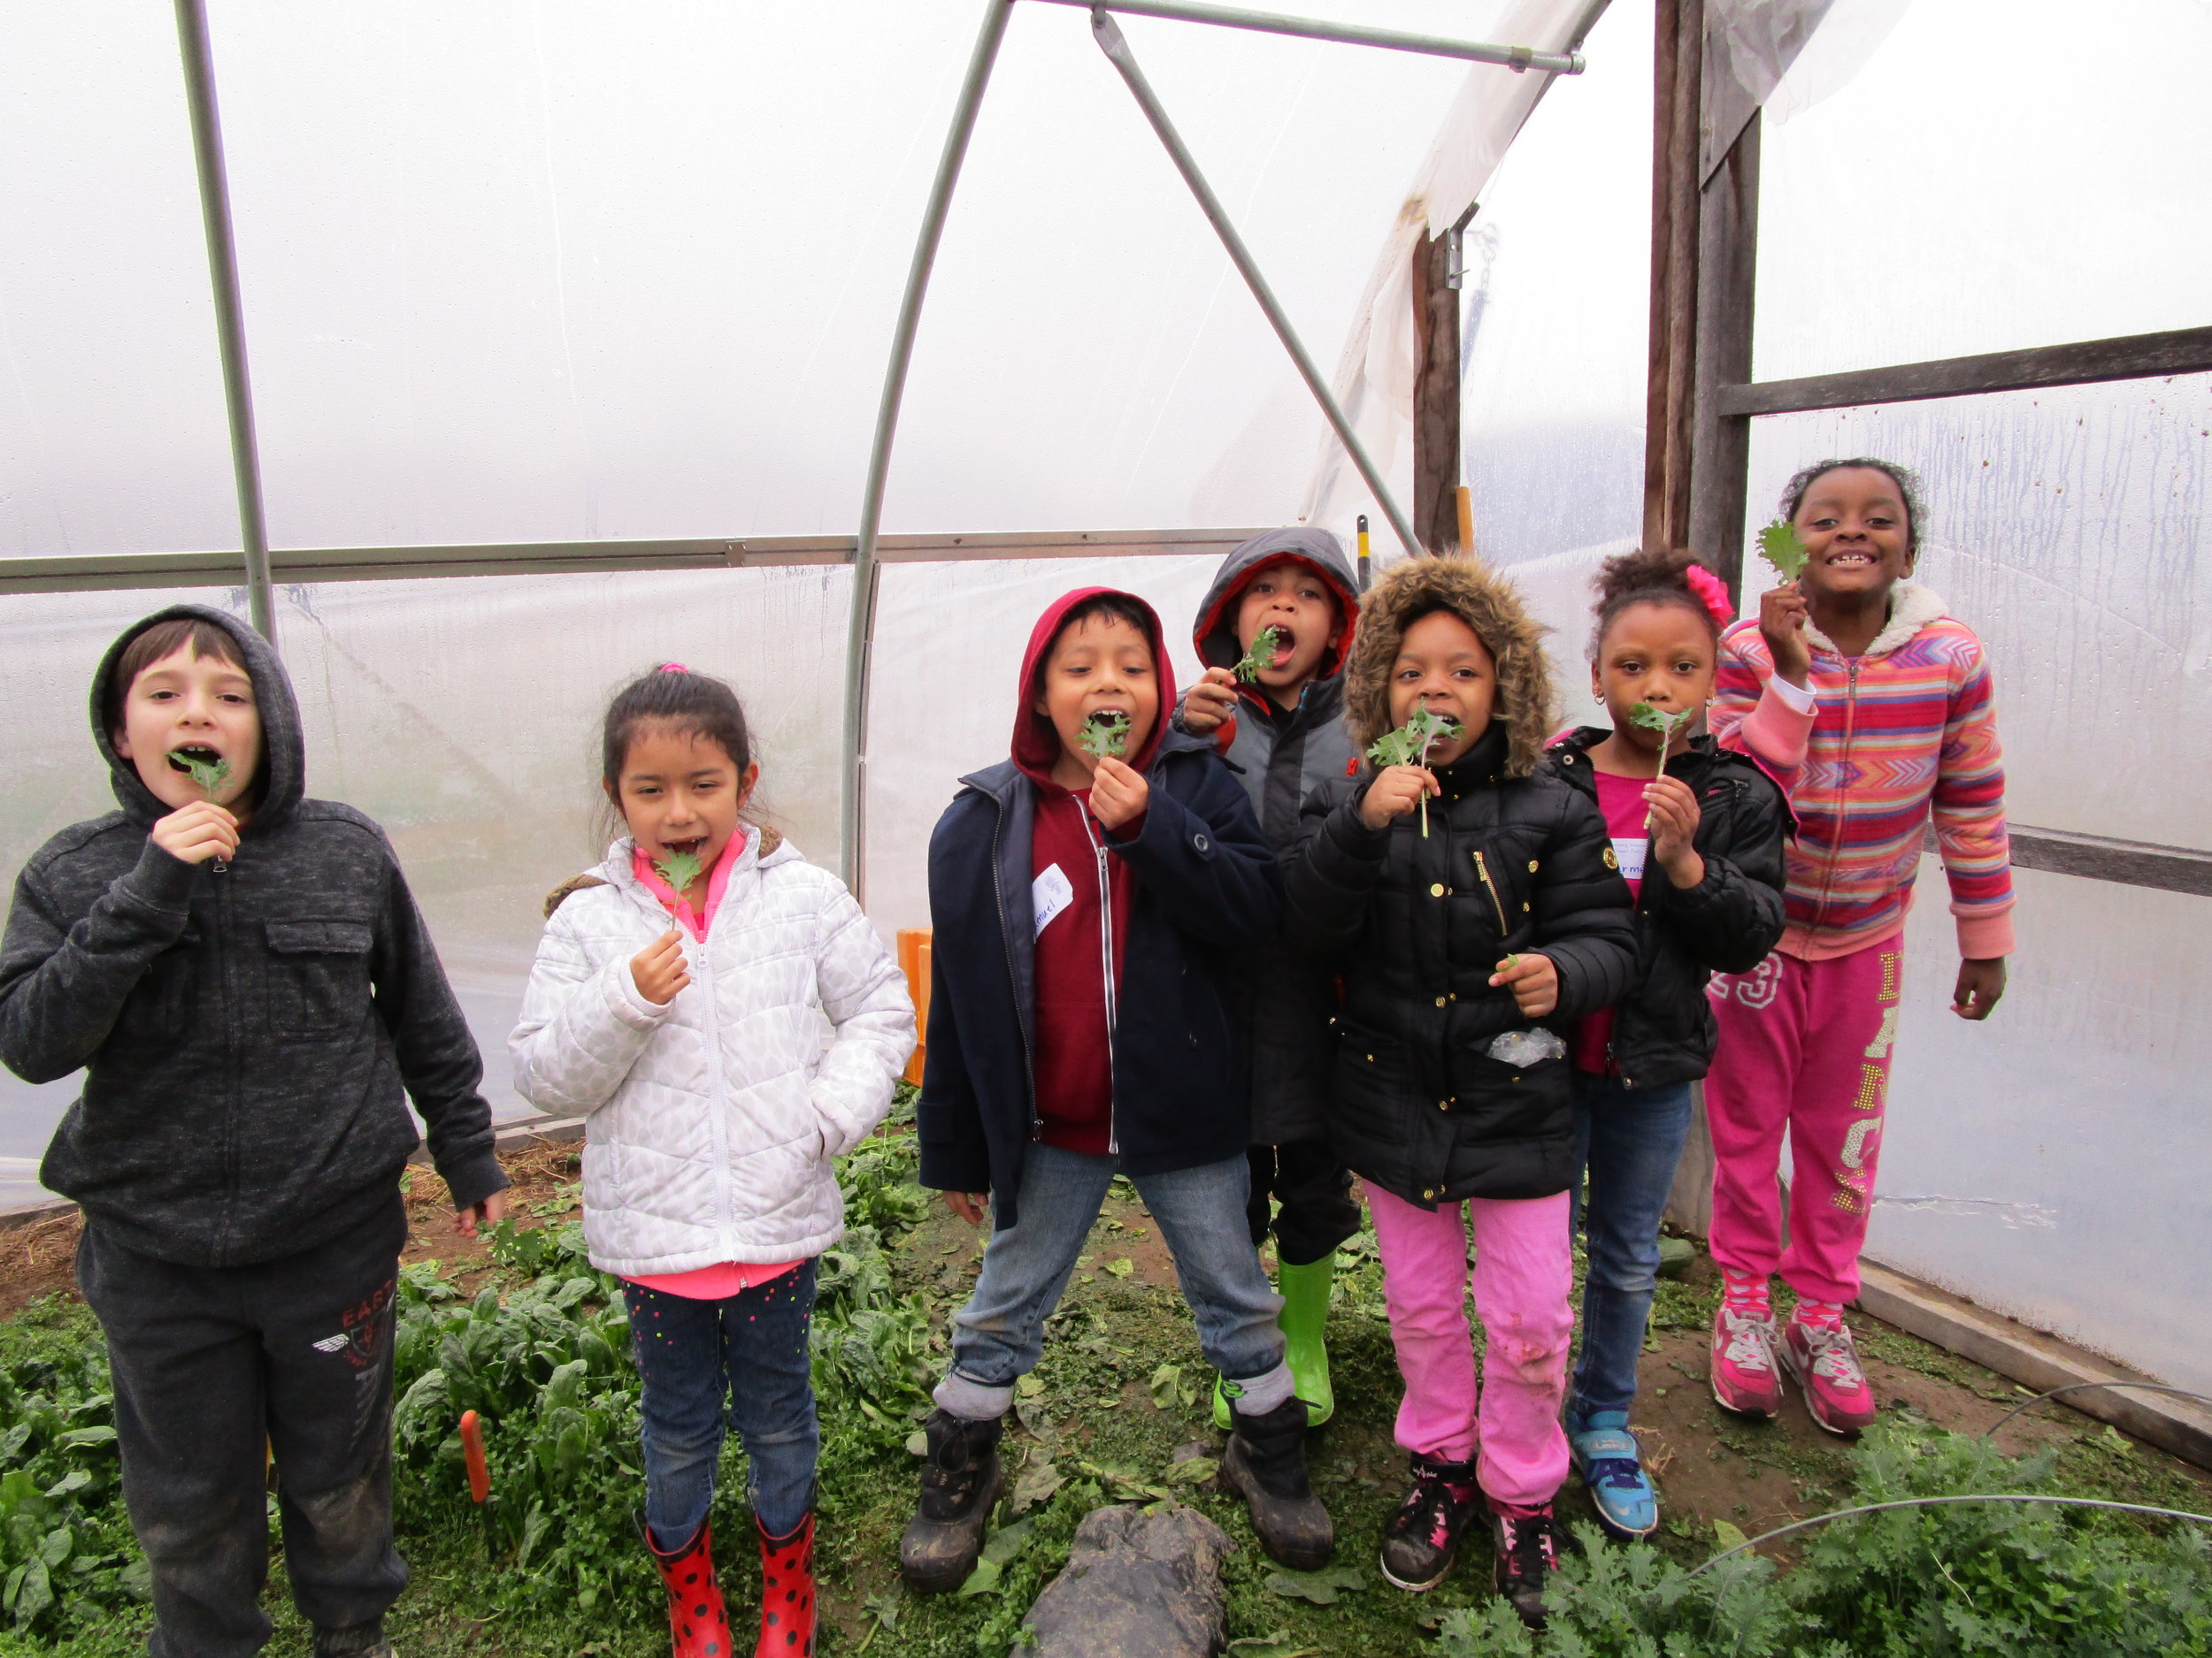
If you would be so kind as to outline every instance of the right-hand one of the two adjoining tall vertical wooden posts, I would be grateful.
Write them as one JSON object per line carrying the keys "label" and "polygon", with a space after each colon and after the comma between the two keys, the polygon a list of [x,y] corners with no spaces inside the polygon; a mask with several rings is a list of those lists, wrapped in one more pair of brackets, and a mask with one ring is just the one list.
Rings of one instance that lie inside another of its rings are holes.
{"label": "right-hand one of the two adjoining tall vertical wooden posts", "polygon": [[1743,495],[1752,422],[1730,413],[1721,389],[1752,374],[1752,301],[1759,276],[1759,113],[1699,192],[1697,407],[1690,427],[1688,546],[1743,590]]}

